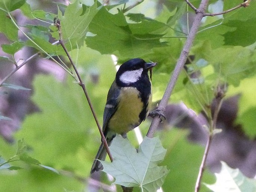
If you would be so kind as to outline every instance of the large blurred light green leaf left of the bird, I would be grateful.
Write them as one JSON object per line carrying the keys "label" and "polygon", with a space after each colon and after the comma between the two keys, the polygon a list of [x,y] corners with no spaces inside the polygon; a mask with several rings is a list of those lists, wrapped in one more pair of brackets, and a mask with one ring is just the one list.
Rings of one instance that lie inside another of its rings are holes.
{"label": "large blurred light green leaf left of the bird", "polygon": [[[110,66],[108,70],[109,68]],[[86,86],[90,90],[89,85]],[[25,119],[16,138],[24,138],[27,145],[33,148],[33,157],[43,165],[73,170],[81,175],[89,174],[95,156],[94,150],[98,147],[91,143],[100,142],[100,138],[95,139],[98,136],[96,124],[80,86],[73,83],[71,77],[67,82],[61,83],[51,76],[41,75],[36,77],[33,87],[33,102],[41,112]],[[91,91],[90,95],[96,111],[103,114],[105,99],[99,97],[99,89],[100,87],[95,93]],[[104,98],[107,94],[105,92]]]}

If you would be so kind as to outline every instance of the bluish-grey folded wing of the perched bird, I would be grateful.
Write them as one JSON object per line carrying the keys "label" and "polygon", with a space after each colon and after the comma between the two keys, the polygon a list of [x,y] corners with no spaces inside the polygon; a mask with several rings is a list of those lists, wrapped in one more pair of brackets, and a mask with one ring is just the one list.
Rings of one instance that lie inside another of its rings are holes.
{"label": "bluish-grey folded wing of the perched bird", "polygon": [[114,80],[114,82],[110,87],[110,90],[108,91],[107,103],[105,105],[104,114],[103,114],[102,130],[105,137],[107,136],[107,132],[108,132],[108,128],[107,128],[108,121],[117,110],[119,94],[120,94],[120,88],[117,87]]}

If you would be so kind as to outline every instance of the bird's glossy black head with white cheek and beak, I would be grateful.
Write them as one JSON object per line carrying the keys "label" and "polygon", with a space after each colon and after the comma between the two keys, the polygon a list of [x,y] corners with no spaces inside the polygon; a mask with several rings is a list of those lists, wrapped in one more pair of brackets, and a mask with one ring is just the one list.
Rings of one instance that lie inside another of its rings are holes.
{"label": "bird's glossy black head with white cheek and beak", "polygon": [[131,59],[124,62],[117,71],[116,80],[118,84],[130,85],[141,78],[148,78],[148,70],[157,63],[146,63],[143,59]]}

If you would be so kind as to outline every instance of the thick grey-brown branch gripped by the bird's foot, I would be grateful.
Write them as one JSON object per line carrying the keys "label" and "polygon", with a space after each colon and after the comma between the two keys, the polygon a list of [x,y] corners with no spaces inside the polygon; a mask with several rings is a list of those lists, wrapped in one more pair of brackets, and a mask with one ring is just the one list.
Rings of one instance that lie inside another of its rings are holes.
{"label": "thick grey-brown branch gripped by the bird's foot", "polygon": [[[194,23],[191,27],[191,31],[189,32],[188,38],[186,40],[186,43],[183,47],[183,50],[181,52],[181,55],[177,61],[177,64],[175,66],[175,69],[173,71],[173,74],[170,78],[170,81],[166,87],[166,90],[164,92],[163,98],[161,99],[161,102],[159,103],[158,109],[160,111],[164,111],[167,105],[167,102],[172,94],[173,88],[176,84],[176,81],[179,77],[179,74],[181,72],[181,70],[183,69],[183,66],[186,62],[186,58],[188,56],[189,50],[192,47],[192,43],[195,39],[195,34],[198,31],[198,28],[200,27],[200,23],[201,23],[201,19],[204,16],[204,12],[206,9],[206,6],[208,4],[209,0],[202,0],[201,4],[199,6],[199,8],[197,9],[197,14],[195,16],[195,20]],[[149,127],[148,133],[146,134],[147,137],[152,138],[154,136],[155,131],[157,130],[157,126],[160,123],[160,118],[158,118],[158,116],[154,117],[152,120],[152,123]]]}

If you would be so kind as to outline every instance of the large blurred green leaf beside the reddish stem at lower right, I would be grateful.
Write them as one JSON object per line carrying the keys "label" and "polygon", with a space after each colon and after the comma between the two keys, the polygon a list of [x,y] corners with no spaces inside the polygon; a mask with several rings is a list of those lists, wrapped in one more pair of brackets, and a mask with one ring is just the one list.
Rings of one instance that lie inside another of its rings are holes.
{"label": "large blurred green leaf beside the reddish stem at lower right", "polygon": [[[170,170],[162,186],[164,192],[194,192],[195,190],[204,147],[190,142],[187,139],[188,132],[189,130],[185,129],[170,129],[168,126],[166,131],[160,133],[163,146],[167,149],[162,164],[167,165]],[[213,183],[214,181],[214,176],[206,169],[203,182]],[[202,185],[200,192],[209,192],[209,189]]]}

